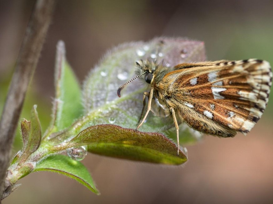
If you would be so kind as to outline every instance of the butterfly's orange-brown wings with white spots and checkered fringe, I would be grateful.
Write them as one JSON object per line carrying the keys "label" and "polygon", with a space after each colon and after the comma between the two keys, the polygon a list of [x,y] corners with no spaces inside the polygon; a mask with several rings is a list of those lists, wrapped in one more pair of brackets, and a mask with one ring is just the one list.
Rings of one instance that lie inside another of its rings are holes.
{"label": "butterfly's orange-brown wings with white spots and checkered fringe", "polygon": [[[168,93],[180,104],[178,111],[182,111],[188,123],[187,117],[196,120],[196,124],[198,120],[202,124],[216,122],[227,130],[247,133],[265,110],[272,84],[272,72],[267,61],[249,59],[211,62],[207,65],[180,64],[175,69],[165,75],[163,82],[173,81]],[[189,109],[193,112],[187,116],[185,110]],[[190,126],[200,129],[194,123]],[[219,136],[222,134],[215,133]]]}

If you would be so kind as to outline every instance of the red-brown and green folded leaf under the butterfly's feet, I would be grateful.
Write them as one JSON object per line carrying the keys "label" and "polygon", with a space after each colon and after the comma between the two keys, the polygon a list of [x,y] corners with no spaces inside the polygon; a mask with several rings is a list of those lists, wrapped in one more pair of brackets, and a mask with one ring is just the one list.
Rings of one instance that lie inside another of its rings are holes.
{"label": "red-brown and green folded leaf under the butterfly's feet", "polygon": [[88,127],[66,144],[87,145],[91,153],[122,159],[171,165],[187,161],[181,150],[177,156],[176,145],[164,135],[115,125]]}

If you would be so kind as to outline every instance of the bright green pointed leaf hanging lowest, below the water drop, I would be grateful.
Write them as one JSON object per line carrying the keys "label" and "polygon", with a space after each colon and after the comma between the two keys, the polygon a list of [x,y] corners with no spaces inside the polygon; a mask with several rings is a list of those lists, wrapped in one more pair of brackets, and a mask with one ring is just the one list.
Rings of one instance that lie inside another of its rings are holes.
{"label": "bright green pointed leaf hanging lowest, below the water drop", "polygon": [[99,195],[99,190],[88,172],[87,168],[80,163],[64,155],[53,155],[37,164],[33,171],[52,171],[77,180],[90,191]]}

